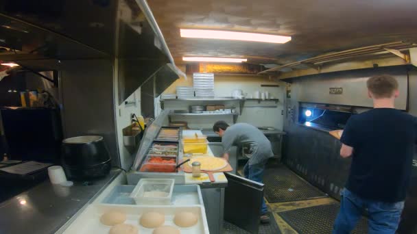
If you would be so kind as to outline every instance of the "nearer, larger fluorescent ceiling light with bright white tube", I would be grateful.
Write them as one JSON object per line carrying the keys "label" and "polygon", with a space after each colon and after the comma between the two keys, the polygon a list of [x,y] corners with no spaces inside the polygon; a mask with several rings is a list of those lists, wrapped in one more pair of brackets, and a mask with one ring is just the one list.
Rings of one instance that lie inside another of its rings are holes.
{"label": "nearer, larger fluorescent ceiling light with bright white tube", "polygon": [[285,43],[291,40],[290,36],[270,34],[252,34],[237,31],[219,31],[202,29],[180,29],[182,38],[208,38],[224,40],[246,40],[251,42]]}

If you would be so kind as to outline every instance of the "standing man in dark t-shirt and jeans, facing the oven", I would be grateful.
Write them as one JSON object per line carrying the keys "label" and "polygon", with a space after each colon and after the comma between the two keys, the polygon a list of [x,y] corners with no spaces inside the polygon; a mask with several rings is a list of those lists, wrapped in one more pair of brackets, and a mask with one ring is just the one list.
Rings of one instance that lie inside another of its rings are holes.
{"label": "standing man in dark t-shirt and jeans, facing the oven", "polygon": [[333,233],[350,233],[368,209],[369,233],[394,234],[404,207],[417,142],[417,119],[394,108],[398,82],[388,75],[371,77],[368,96],[374,109],[348,120],[342,157],[352,156]]}

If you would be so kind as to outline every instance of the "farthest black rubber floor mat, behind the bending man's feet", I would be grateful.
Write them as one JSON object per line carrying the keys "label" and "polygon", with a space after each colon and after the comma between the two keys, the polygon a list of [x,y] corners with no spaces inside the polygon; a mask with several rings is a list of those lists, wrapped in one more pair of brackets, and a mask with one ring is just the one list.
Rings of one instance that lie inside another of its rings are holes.
{"label": "farthest black rubber floor mat, behind the bending man's feet", "polygon": [[263,175],[264,196],[269,203],[284,203],[327,197],[285,166],[267,168]]}

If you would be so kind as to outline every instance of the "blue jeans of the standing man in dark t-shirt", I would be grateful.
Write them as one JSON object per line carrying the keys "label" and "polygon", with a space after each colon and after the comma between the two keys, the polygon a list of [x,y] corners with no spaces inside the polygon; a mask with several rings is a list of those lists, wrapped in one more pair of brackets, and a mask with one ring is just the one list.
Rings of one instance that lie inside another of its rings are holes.
{"label": "blue jeans of the standing man in dark t-shirt", "polygon": [[345,189],[340,211],[333,226],[333,234],[353,231],[364,209],[368,209],[369,234],[394,234],[403,208],[404,202],[383,203],[364,199]]}

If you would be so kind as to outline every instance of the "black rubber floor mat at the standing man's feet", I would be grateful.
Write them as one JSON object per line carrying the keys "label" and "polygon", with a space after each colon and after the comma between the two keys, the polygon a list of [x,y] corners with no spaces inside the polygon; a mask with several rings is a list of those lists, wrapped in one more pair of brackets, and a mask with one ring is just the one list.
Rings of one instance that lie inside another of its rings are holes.
{"label": "black rubber floor mat at the standing man's feet", "polygon": [[[279,212],[278,215],[287,222],[299,234],[326,234],[331,233],[339,204],[318,205],[294,209],[291,211]],[[353,231],[356,234],[368,233],[368,224],[366,218],[362,217]]]}

